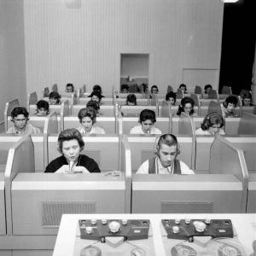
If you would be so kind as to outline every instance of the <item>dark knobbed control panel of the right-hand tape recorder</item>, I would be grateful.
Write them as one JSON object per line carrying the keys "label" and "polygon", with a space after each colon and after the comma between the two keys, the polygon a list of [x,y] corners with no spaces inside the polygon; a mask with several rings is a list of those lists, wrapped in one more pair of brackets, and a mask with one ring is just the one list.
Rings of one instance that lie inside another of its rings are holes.
{"label": "dark knobbed control panel of the right-hand tape recorder", "polygon": [[194,241],[195,236],[234,236],[230,219],[162,219],[167,238]]}

